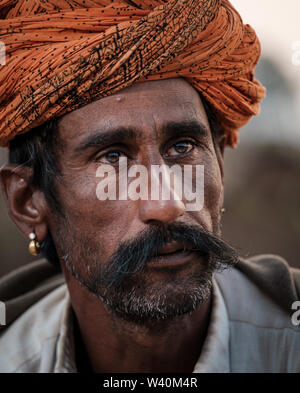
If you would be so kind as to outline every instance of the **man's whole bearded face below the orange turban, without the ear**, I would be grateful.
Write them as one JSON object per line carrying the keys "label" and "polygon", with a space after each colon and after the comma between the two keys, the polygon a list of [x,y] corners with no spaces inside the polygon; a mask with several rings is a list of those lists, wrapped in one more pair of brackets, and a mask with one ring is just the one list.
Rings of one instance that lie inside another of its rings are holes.
{"label": "man's whole bearded face below the orange turban, without the ear", "polygon": [[[67,114],[59,133],[64,217],[51,215],[49,225],[74,277],[129,319],[168,318],[204,302],[224,248],[203,231],[219,234],[223,184],[196,90],[181,79],[138,83]],[[152,165],[204,165],[204,207],[186,211],[184,198],[99,200],[97,169],[111,165],[118,189],[123,157],[128,170],[139,164],[149,173]]]}

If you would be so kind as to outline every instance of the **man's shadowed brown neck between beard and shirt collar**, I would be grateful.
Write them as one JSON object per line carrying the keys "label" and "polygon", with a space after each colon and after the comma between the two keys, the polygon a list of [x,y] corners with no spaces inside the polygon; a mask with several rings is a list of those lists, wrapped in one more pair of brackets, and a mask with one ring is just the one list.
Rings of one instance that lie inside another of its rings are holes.
{"label": "man's shadowed brown neck between beard and shirt collar", "polygon": [[87,371],[87,364],[90,371],[101,373],[193,371],[206,337],[211,297],[193,313],[141,325],[115,316],[65,274],[76,316],[78,371]]}

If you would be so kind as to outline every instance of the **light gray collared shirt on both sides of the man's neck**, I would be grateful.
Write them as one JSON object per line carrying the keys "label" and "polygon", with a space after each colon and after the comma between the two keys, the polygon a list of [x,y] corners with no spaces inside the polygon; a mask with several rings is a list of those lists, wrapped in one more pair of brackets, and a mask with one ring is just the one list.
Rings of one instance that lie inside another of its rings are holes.
{"label": "light gray collared shirt on both sides of the man's neck", "polygon": [[[213,281],[212,314],[194,373],[300,372],[300,329],[288,312],[234,268]],[[76,372],[65,284],[0,335],[0,372]]]}

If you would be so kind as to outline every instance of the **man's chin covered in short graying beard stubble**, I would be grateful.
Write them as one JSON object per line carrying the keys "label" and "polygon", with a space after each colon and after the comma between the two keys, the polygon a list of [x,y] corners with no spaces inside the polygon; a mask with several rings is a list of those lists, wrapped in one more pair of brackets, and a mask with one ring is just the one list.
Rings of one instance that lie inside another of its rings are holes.
{"label": "man's chin covered in short graying beard stubble", "polygon": [[209,298],[212,275],[165,283],[106,289],[98,297],[117,317],[145,325],[192,313]]}

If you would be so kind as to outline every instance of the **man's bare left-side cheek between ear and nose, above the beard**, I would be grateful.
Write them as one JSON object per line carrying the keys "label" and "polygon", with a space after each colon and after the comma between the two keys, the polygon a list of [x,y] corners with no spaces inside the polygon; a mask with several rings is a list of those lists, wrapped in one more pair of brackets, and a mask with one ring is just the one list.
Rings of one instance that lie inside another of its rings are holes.
{"label": "man's bare left-side cheek between ear and nose, above the beard", "polygon": [[83,234],[96,248],[101,247],[106,259],[128,237],[136,206],[130,201],[99,200],[99,181],[96,176],[69,177],[67,184],[60,186],[59,195],[70,229]]}

